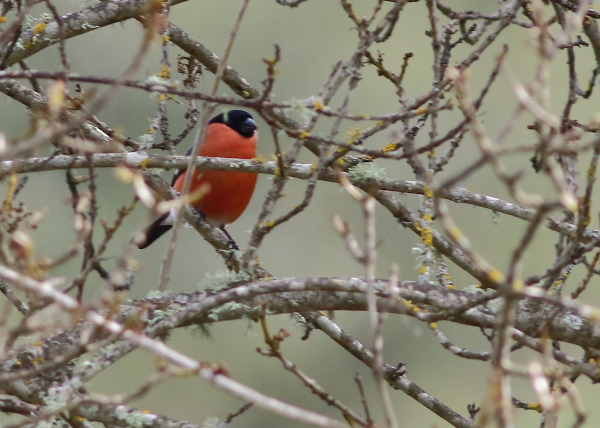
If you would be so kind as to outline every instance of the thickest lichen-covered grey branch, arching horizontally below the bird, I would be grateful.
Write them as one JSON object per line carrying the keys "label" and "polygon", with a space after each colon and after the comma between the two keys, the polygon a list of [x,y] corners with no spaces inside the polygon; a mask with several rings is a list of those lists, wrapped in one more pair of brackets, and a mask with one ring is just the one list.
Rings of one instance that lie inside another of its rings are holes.
{"label": "thickest lichen-covered grey branch, arching horizontally below the bird", "polygon": [[[36,290],[33,287],[33,281],[31,280],[32,284],[28,287]],[[428,322],[431,314],[443,311],[449,314],[446,320],[459,324],[482,328],[493,328],[496,325],[492,309],[485,306],[470,307],[472,300],[478,301],[481,297],[477,293],[411,281],[398,282],[397,288],[389,290],[388,281],[378,280],[374,287],[378,299],[377,306],[382,312],[410,315]],[[545,333],[550,339],[574,343],[586,348],[600,348],[600,329],[596,328],[593,321],[588,321],[580,315],[580,312],[583,315],[591,314],[586,306],[575,303],[565,306],[565,302],[535,291],[541,289],[535,287],[529,289],[532,292],[519,294],[518,297],[520,299],[541,299],[542,302],[548,304],[548,308],[533,312],[524,307],[515,321],[515,328],[535,333],[539,325],[546,323]],[[41,290],[37,290],[37,292],[40,293]],[[231,289],[218,292],[202,290],[139,299],[131,305],[123,305],[114,322],[123,324],[130,317],[139,317],[140,310],[148,311],[149,318],[146,323],[149,327],[146,329],[146,334],[151,337],[160,337],[172,328],[244,317],[256,318],[262,315],[266,309],[272,314],[304,312],[311,309],[365,311],[367,308],[366,293],[367,282],[362,278],[287,278],[250,282],[236,284]],[[69,299],[67,307],[71,308],[71,302],[74,300],[70,297],[65,298]],[[412,304],[407,305],[406,302],[412,302]],[[413,305],[416,305],[417,308],[427,309],[427,311],[415,310]],[[548,314],[554,314],[556,307],[562,309],[562,312],[551,320],[547,320]],[[166,316],[166,314],[172,315]],[[43,354],[47,355],[47,358],[53,358],[67,352],[76,354],[85,351],[79,341],[80,334],[83,334],[84,331],[82,325],[78,324],[71,328],[70,332],[61,333],[60,340],[55,337],[44,341]],[[72,339],[66,340],[66,337],[72,337]],[[92,339],[100,340],[105,337],[106,333],[92,337]],[[73,345],[74,348],[70,349],[70,346]],[[16,358],[20,359],[18,355]],[[25,360],[27,359],[28,357],[25,358]],[[6,364],[0,365],[3,367],[0,374],[7,375],[13,370],[18,372],[26,369],[23,365],[14,367],[14,360],[4,362]],[[0,377],[0,379],[2,378]]]}

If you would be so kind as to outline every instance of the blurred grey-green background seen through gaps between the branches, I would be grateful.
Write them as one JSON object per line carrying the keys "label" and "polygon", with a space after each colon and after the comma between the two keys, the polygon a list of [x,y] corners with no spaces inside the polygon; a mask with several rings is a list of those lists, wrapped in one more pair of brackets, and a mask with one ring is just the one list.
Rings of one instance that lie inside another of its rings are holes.
{"label": "blurred grey-green background seen through gaps between the branches", "polygon": [[[374,1],[357,0],[353,6],[358,15],[368,15]],[[475,9],[485,13],[494,13],[497,2],[450,1],[457,9]],[[62,12],[80,7],[80,3],[57,2]],[[229,0],[196,0],[173,7],[170,20],[196,37],[200,43],[221,55],[229,37],[230,29],[235,22],[241,1]],[[384,10],[391,7],[385,4]],[[34,10],[43,13],[43,8]],[[551,10],[548,9],[548,14]],[[32,14],[35,17],[35,13]],[[524,19],[523,17],[520,17]],[[441,23],[446,23],[442,18]],[[230,56],[229,64],[244,76],[256,88],[262,88],[265,79],[265,64],[263,58],[272,58],[274,44],[281,48],[281,62],[278,68],[281,73],[277,76],[274,94],[278,101],[301,100],[317,94],[321,85],[326,82],[334,64],[345,61],[355,49],[356,31],[352,22],[334,1],[308,1],[298,8],[287,8],[277,5],[275,1],[253,0],[248,6],[235,46]],[[391,70],[399,71],[402,58],[406,52],[412,52],[407,74],[404,79],[404,89],[407,97],[418,97],[431,86],[433,72],[431,60],[430,39],[424,34],[428,29],[427,8],[425,2],[409,3],[404,8],[394,35],[385,43],[374,45],[371,52],[377,49],[385,53],[385,65]],[[108,28],[98,29],[81,37],[68,40],[67,55],[71,61],[73,73],[95,74],[98,76],[119,76],[130,64],[131,58],[139,48],[143,37],[140,24],[134,20],[119,23]],[[502,49],[502,44],[509,46],[506,61],[506,72],[501,74],[497,83],[491,88],[487,101],[482,108],[480,119],[490,136],[497,135],[507,123],[511,122],[517,101],[515,100],[509,75],[527,82],[535,73],[536,47],[532,31],[514,26],[506,31],[495,43],[496,46],[487,50],[482,59],[473,66],[470,77],[470,87],[473,94],[478,94],[488,79],[493,61]],[[451,64],[456,64],[465,58],[473,49],[472,46],[458,46],[452,57]],[[177,47],[170,49],[170,61],[175,68],[176,55],[182,53]],[[593,55],[590,49],[577,50],[577,67],[580,72],[581,85],[585,86],[588,76],[594,67]],[[60,67],[58,49],[52,47],[28,59],[29,67],[34,70],[58,70]],[[137,77],[160,72],[160,43],[155,40],[152,52],[137,72]],[[352,94],[349,110],[352,113],[389,113],[400,106],[392,85],[377,76],[372,67],[362,69],[362,80],[358,89]],[[181,80],[181,76],[173,75],[173,79]],[[553,113],[560,114],[565,103],[568,76],[566,74],[566,53],[559,52],[551,67],[553,82],[552,106]],[[44,82],[47,85],[47,82]],[[83,85],[85,89],[92,86]],[[200,80],[199,89],[209,91],[212,86],[212,76],[205,74]],[[71,86],[71,90],[74,86]],[[225,85],[221,85],[220,93],[232,95]],[[341,95],[345,95],[343,92]],[[451,95],[449,95],[451,97]],[[337,106],[341,97],[335,98],[332,106]],[[581,122],[587,122],[596,113],[598,95],[590,100],[581,100],[574,108],[573,117]],[[100,112],[104,122],[124,135],[139,138],[149,125],[149,118],[154,116],[157,103],[154,98],[142,91],[119,89],[115,97]],[[182,113],[185,104],[169,105],[170,131],[177,134],[184,121]],[[256,114],[254,115],[257,116]],[[440,133],[452,128],[460,120],[460,112],[455,109],[440,114]],[[526,125],[531,117],[520,118],[514,123],[507,146],[533,144],[536,135],[527,131]],[[274,152],[271,132],[259,118],[259,153],[266,158]],[[331,120],[319,120],[317,132],[325,134],[331,126]],[[371,123],[344,122],[341,133],[358,126],[367,128]],[[29,127],[29,119],[25,108],[7,97],[0,97],[0,132],[9,138],[25,135]],[[380,148],[392,141],[394,135],[400,132],[400,125],[382,132],[368,141],[368,146]],[[417,139],[418,144],[427,143],[427,131],[424,129]],[[343,135],[341,135],[343,137]],[[285,138],[282,140],[284,149],[292,143]],[[183,153],[190,139],[178,146],[178,152]],[[49,149],[47,149],[49,150]],[[49,151],[40,150],[38,155]],[[465,165],[476,158],[476,147],[467,137],[457,150],[456,159],[440,174],[439,182],[445,177],[454,176]],[[438,153],[444,153],[441,147]],[[523,171],[522,185],[530,192],[545,196],[553,196],[554,191],[545,176],[536,175],[529,163],[529,154],[513,156],[506,159],[505,164],[510,171]],[[312,162],[310,153],[302,153],[301,161]],[[581,171],[585,171],[586,157],[581,159]],[[410,168],[402,162],[378,161],[385,168],[388,177],[414,179]],[[171,176],[170,171],[163,173],[164,177]],[[506,189],[499,184],[496,177],[488,168],[479,170],[467,180],[459,183],[473,191],[494,195],[500,198],[508,197]],[[271,185],[271,176],[259,177],[254,197],[244,215],[231,225],[228,230],[243,248],[248,239],[248,231],[256,221],[257,213]],[[286,186],[289,196],[279,204],[276,213],[284,213],[295,206],[304,196],[306,183],[292,180]],[[83,187],[82,187],[83,190]],[[71,207],[68,203],[69,192],[65,185],[64,172],[29,174],[29,183],[20,194],[29,210],[47,210],[47,215],[34,232],[36,248],[39,252],[57,257],[70,248],[74,232],[70,221]],[[416,209],[418,197],[415,195],[400,196],[409,206]],[[98,171],[98,202],[100,217],[111,222],[116,217],[116,209],[127,205],[133,198],[133,192],[128,185],[115,178],[112,171]],[[594,207],[597,208],[597,207]],[[449,209],[458,225],[463,228],[472,241],[473,247],[481,252],[490,263],[505,270],[511,257],[511,251],[519,242],[526,224],[499,215],[497,218],[487,210],[471,206],[449,204]],[[362,233],[361,209],[348,195],[341,191],[340,186],[332,183],[319,183],[314,199],[307,210],[286,224],[276,228],[266,238],[259,251],[260,262],[266,270],[277,278],[290,276],[353,276],[364,275],[358,263],[347,253],[343,240],[334,232],[331,226],[331,215],[340,214],[350,222],[358,236]],[[560,216],[560,213],[556,213]],[[122,250],[128,246],[133,233],[150,220],[147,210],[139,205],[134,213],[125,219],[121,233],[113,239],[106,255],[109,258],[104,263],[108,269],[115,266]],[[597,228],[594,219],[590,227]],[[385,210],[377,208],[377,233],[379,235],[379,258],[377,275],[385,278],[389,275],[389,266],[397,263],[400,267],[401,279],[416,279],[416,259],[412,248],[418,245],[419,239],[399,227]],[[98,233],[98,239],[101,234]],[[527,276],[540,272],[554,261],[554,243],[556,236],[548,231],[541,231],[533,241],[526,254],[522,275]],[[145,296],[155,290],[158,284],[161,259],[166,250],[167,239],[144,251],[133,251],[133,257],[139,261],[140,269],[135,273],[135,281],[130,297]],[[53,276],[73,278],[79,270],[80,260],[76,259],[52,272]],[[475,281],[454,267],[451,273],[458,287],[474,284]],[[193,230],[182,228],[179,234],[178,246],[175,253],[169,290],[173,292],[194,290],[207,274],[214,275],[224,269],[221,258],[215,255],[212,248],[203,242]],[[572,280],[574,287],[575,280]],[[85,299],[93,301],[106,285],[92,275],[86,284]],[[569,290],[571,291],[571,290]],[[586,301],[598,303],[598,293],[587,293]],[[356,339],[369,345],[368,322],[366,314],[337,313],[335,320]],[[382,414],[379,398],[374,393],[372,376],[361,364],[350,355],[343,352],[323,334],[315,331],[310,340],[302,342],[299,337],[302,330],[293,327],[290,317],[278,316],[268,318],[272,332],[283,327],[292,333],[284,342],[284,355],[298,364],[299,369],[315,378],[329,393],[342,400],[352,408],[361,412],[360,397],[353,381],[355,373],[361,373],[367,389],[368,404],[376,421],[382,424]],[[487,350],[488,345],[478,331],[472,328],[440,323],[440,327],[456,345],[473,351]],[[223,322],[210,327],[211,338],[203,337],[193,331],[184,330],[173,333],[169,345],[199,358],[203,361],[222,363],[230,375],[247,382],[265,394],[272,394],[281,400],[302,406],[313,411],[339,417],[338,412],[328,408],[323,402],[310,394],[292,375],[284,373],[278,361],[260,356],[255,349],[263,346],[260,328],[248,321]],[[385,360],[386,363],[406,363],[409,378],[425,388],[446,405],[466,415],[467,403],[481,403],[486,394],[487,376],[490,373],[489,364],[478,361],[467,361],[449,354],[442,349],[427,326],[408,317],[389,316],[385,326]],[[575,356],[580,352],[575,351]],[[526,351],[515,354],[515,360],[526,361],[529,357],[538,356]],[[105,373],[101,373],[92,381],[92,390],[116,394],[133,390],[143,382],[149,373],[155,370],[154,357],[145,351],[135,351],[119,361]],[[582,379],[583,380],[583,379]],[[582,395],[593,396],[593,391],[586,391],[589,382],[578,382],[584,385]],[[527,379],[515,379],[515,396],[528,402],[537,399]],[[446,426],[446,423],[434,414],[422,408],[409,397],[398,391],[391,391],[395,411],[400,426]],[[593,412],[593,400],[587,400],[590,413],[589,424],[598,423],[600,417]],[[197,378],[172,379],[153,388],[148,396],[133,403],[139,408],[183,420],[200,423],[209,417],[224,418],[235,412],[243,403],[230,397],[220,390],[212,388],[205,381]],[[565,401],[565,406],[568,407]],[[569,414],[569,411],[566,411]],[[539,415],[534,412],[517,412],[518,426],[535,426]],[[1,417],[0,417],[1,418]],[[570,426],[572,417],[563,416],[560,426]],[[300,426],[263,411],[252,408],[244,416],[233,421],[233,427],[263,427]]]}

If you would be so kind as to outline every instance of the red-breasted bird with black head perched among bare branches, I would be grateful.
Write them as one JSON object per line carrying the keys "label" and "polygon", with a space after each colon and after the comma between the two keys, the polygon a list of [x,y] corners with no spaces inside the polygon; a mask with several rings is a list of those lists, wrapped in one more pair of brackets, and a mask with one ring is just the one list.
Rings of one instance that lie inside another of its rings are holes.
{"label": "red-breasted bird with black head perched among bare branches", "polygon": [[[253,117],[244,110],[230,110],[218,114],[208,122],[206,135],[198,156],[251,159],[256,157],[258,132]],[[193,147],[187,150],[191,154]],[[175,172],[171,186],[181,192],[186,170]],[[230,246],[238,249],[225,226],[236,221],[248,206],[256,185],[256,173],[236,171],[196,170],[191,179],[190,194],[196,191],[202,197],[191,202],[214,227],[220,228],[229,239]],[[202,192],[200,189],[204,189]],[[166,212],[136,236],[135,243],[143,249],[173,227],[176,212]]]}

